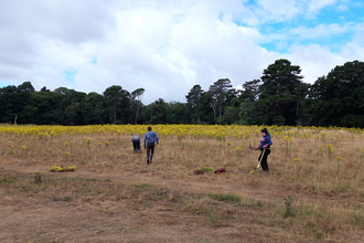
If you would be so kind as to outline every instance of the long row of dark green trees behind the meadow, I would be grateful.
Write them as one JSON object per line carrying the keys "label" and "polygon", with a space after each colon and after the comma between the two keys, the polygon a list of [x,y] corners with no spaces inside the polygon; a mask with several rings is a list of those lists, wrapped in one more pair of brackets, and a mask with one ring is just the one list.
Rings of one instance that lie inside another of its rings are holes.
{"label": "long row of dark green trees behind the meadow", "polygon": [[34,91],[31,82],[0,88],[0,123],[36,125],[221,124],[364,127],[364,63],[335,66],[313,84],[280,59],[260,78],[233,88],[220,78],[207,91],[194,85],[186,102],[142,104],[143,88],[113,85],[103,94],[58,87]]}

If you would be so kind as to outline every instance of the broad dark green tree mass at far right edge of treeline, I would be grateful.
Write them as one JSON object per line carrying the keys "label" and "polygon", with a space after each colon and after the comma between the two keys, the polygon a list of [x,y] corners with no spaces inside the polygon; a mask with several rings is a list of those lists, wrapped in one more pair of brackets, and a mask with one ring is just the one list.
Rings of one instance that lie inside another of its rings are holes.
{"label": "broad dark green tree mass at far right edge of treeline", "polygon": [[319,77],[307,109],[311,125],[364,127],[364,63],[346,62]]}

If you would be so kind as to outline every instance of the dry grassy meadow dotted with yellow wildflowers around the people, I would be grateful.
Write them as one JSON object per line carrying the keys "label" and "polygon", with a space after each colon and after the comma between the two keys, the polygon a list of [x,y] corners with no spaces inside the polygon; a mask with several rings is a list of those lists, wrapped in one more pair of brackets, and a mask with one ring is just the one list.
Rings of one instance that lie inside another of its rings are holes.
{"label": "dry grassy meadow dotted with yellow wildflowers around the people", "polygon": [[364,242],[363,129],[152,128],[0,125],[0,242]]}

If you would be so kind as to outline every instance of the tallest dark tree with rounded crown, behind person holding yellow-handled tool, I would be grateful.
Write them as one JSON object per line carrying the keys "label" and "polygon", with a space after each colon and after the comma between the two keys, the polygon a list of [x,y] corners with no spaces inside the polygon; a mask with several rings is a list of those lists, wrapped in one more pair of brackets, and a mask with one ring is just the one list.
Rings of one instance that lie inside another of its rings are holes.
{"label": "tallest dark tree with rounded crown, behind person holding yellow-handled tool", "polygon": [[[301,68],[288,60],[277,60],[261,76],[257,108],[264,114],[264,124],[296,125],[298,119]],[[301,91],[300,91],[301,92]]]}

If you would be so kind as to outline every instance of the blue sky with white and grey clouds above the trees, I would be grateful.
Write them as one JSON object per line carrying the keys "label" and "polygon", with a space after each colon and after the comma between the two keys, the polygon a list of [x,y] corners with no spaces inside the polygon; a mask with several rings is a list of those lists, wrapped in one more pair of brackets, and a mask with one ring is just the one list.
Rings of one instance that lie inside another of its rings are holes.
{"label": "blue sky with white and grey clouds above the trees", "polygon": [[363,0],[1,0],[0,87],[119,85],[184,103],[196,84],[240,88],[279,59],[314,83],[364,61],[363,12]]}

